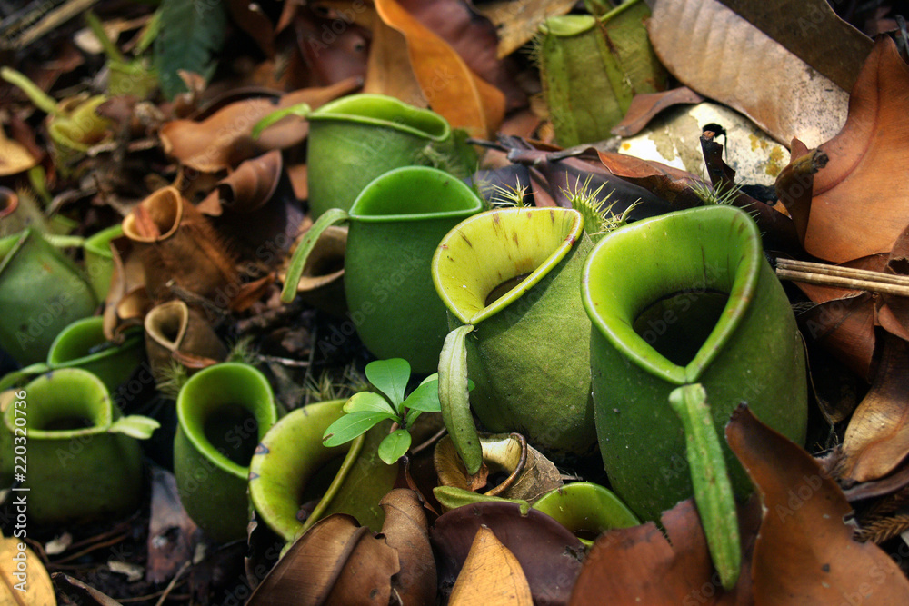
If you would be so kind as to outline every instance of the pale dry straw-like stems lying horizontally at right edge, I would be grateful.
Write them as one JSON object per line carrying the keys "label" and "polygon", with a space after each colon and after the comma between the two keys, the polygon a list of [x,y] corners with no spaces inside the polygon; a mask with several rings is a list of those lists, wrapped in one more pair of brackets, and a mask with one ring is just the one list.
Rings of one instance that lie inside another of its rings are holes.
{"label": "pale dry straw-like stems lying horizontally at right edge", "polygon": [[777,259],[776,277],[822,286],[835,286],[855,291],[894,294],[909,297],[909,276],[872,272],[864,269],[837,267],[824,263]]}

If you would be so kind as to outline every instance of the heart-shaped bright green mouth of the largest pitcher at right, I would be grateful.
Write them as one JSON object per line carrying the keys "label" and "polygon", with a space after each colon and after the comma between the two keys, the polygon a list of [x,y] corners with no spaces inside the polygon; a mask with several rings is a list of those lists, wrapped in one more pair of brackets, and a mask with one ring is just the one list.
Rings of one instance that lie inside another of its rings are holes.
{"label": "heart-shaped bright green mouth of the largest pitcher at right", "polygon": [[[695,217],[699,223],[692,229]],[[594,325],[627,359],[677,385],[698,382],[742,323],[755,296],[762,255],[757,225],[736,208],[702,206],[665,214],[626,225],[597,243],[584,263],[582,300]],[[640,263],[654,257],[652,263]],[[684,293],[728,293],[728,299],[683,366],[658,352],[634,324],[654,303]]]}

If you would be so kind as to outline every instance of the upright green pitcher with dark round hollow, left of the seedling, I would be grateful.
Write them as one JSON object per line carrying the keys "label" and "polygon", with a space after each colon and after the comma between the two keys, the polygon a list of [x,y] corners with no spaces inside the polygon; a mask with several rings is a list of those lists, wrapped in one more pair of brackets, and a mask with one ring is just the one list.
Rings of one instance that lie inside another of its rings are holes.
{"label": "upright green pitcher with dark round hollow, left of the seedling", "polygon": [[215,364],[185,382],[176,414],[174,475],[186,512],[215,541],[244,538],[249,461],[277,421],[271,385],[248,364]]}

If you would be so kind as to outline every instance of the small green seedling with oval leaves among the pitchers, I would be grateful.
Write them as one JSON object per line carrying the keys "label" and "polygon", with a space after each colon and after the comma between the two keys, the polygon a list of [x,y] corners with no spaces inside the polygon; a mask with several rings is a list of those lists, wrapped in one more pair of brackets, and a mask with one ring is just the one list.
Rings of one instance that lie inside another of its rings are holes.
{"label": "small green seedling with oval leaves among the pitchers", "polygon": [[426,377],[405,398],[410,363],[403,358],[376,360],[366,364],[366,379],[378,392],[355,393],[344,405],[345,415],[329,425],[322,437],[325,446],[339,446],[391,419],[398,428],[379,443],[379,458],[391,465],[410,448],[410,429],[424,412],[441,412],[439,377]]}

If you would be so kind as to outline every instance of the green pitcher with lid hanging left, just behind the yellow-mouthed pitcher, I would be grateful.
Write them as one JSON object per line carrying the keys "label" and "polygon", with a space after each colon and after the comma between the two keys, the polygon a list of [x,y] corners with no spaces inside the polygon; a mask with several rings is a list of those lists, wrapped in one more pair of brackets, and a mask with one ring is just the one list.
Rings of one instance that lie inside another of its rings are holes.
{"label": "green pitcher with lid hanging left, just behind the yellow-mouthed pitcher", "polygon": [[432,373],[448,329],[430,261],[442,236],[482,209],[474,191],[444,171],[426,166],[389,171],[365,187],[349,214],[335,208],[315,222],[294,253],[282,299],[293,300],[320,233],[348,221],[350,322],[376,357],[404,358],[415,373]]}

